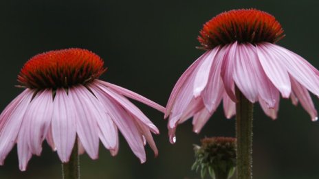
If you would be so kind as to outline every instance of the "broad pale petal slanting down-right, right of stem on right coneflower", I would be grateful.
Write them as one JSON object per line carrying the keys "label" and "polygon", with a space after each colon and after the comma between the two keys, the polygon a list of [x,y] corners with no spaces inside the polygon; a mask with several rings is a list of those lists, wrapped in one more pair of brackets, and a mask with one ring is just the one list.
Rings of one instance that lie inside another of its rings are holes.
{"label": "broad pale petal slanting down-right, right of stem on right coneflower", "polygon": [[272,84],[278,88],[283,97],[289,97],[292,91],[289,75],[281,56],[274,54],[269,43],[256,45],[256,51],[261,66]]}

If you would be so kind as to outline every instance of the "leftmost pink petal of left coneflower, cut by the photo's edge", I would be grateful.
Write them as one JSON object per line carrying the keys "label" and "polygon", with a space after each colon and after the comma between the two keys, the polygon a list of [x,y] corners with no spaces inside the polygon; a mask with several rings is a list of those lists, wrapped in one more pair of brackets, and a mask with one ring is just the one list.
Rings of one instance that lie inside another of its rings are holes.
{"label": "leftmost pink petal of left coneflower, cut by the photo's edge", "polygon": [[12,103],[5,108],[5,114],[1,115],[0,130],[0,165],[8,155],[14,144],[21,128],[23,115],[28,108],[34,91],[26,89]]}

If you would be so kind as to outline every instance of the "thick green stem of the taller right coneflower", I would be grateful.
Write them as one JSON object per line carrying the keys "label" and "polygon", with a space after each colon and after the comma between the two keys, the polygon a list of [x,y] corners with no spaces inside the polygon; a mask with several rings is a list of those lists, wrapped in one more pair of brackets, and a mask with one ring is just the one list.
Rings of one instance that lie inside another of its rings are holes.
{"label": "thick green stem of the taller right coneflower", "polygon": [[252,110],[253,104],[236,92],[237,179],[252,178]]}

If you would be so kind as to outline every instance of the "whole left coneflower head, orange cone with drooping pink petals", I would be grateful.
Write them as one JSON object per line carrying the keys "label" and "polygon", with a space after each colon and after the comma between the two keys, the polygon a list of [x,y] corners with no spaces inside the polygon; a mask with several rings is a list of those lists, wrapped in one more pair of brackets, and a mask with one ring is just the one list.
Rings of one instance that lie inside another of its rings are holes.
{"label": "whole left coneflower head, orange cone with drooping pink petals", "polygon": [[146,141],[157,155],[151,132],[159,131],[126,97],[162,112],[165,108],[98,80],[106,70],[103,64],[85,49],[48,51],[25,63],[18,81],[26,89],[0,116],[0,164],[17,143],[19,167],[24,171],[32,154],[41,154],[45,139],[63,163],[69,161],[76,143],[80,154],[87,152],[96,159],[101,141],[114,156],[118,129],[142,163]]}

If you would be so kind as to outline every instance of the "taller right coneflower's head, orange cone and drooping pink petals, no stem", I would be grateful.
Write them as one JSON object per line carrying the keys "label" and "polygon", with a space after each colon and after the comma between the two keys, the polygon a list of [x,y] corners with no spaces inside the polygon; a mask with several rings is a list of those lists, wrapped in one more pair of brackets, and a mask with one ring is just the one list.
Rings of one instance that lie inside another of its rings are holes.
{"label": "taller right coneflower's head, orange cone and drooping pink petals, no stem", "polygon": [[283,29],[274,16],[260,10],[231,10],[203,26],[199,42],[207,49],[173,88],[165,116],[170,141],[179,123],[192,117],[199,132],[221,101],[227,118],[235,115],[234,89],[250,102],[259,102],[276,119],[280,93],[292,98],[316,121],[317,111],[308,91],[319,95],[319,71],[296,53],[274,43]]}

